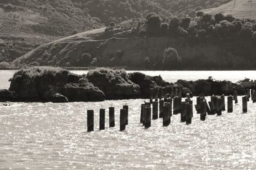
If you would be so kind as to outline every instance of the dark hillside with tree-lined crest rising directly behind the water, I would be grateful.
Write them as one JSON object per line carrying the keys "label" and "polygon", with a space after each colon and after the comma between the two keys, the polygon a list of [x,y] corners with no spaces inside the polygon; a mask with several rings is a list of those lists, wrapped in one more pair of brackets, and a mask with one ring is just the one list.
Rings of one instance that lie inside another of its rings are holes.
{"label": "dark hillside with tree-lined crest rising directly behind the water", "polygon": [[201,12],[197,16],[161,18],[151,13],[146,20],[127,20],[47,43],[13,64],[130,69],[255,68],[255,20]]}

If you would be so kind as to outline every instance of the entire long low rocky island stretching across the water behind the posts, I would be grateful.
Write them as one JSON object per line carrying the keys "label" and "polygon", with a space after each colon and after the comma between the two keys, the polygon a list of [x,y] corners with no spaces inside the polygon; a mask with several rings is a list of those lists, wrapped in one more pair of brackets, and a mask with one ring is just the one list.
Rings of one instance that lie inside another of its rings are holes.
{"label": "entire long low rocky island stretching across the water behind the posts", "polygon": [[88,102],[115,99],[147,99],[150,89],[179,87],[182,96],[239,95],[247,89],[256,89],[249,79],[232,83],[230,81],[206,80],[175,83],[166,82],[161,76],[143,73],[126,73],[124,69],[97,68],[88,74],[78,75],[61,67],[22,68],[10,78],[10,88],[0,90],[0,101],[13,102]]}

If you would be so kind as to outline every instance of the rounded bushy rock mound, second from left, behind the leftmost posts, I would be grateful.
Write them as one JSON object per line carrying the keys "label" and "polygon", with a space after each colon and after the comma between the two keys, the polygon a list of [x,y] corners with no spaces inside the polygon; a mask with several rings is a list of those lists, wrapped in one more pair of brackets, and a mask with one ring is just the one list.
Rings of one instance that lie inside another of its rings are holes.
{"label": "rounded bushy rock mound, second from left, behind the leftmost posts", "polygon": [[132,99],[140,97],[140,86],[129,80],[125,70],[106,68],[93,69],[87,74],[88,80],[99,87],[106,99]]}

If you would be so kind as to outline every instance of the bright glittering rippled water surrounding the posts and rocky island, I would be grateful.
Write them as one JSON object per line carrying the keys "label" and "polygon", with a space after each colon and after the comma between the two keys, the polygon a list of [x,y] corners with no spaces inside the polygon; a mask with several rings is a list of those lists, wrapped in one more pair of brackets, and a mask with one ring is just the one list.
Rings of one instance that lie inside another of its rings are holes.
{"label": "bright glittering rippled water surrounding the posts and rocky island", "polygon": [[[210,71],[147,73],[169,75],[168,80],[202,76],[238,80],[240,75],[228,72],[225,77],[219,72],[217,76]],[[8,83],[2,80],[1,87],[6,87]],[[129,125],[125,132],[119,132],[118,112],[125,103],[129,104]],[[207,116],[202,122],[194,108],[191,125],[180,123],[179,115],[174,115],[169,127],[163,127],[158,119],[152,121],[150,129],[139,124],[141,103],[143,100],[138,99],[0,104],[0,169],[255,169],[256,104],[251,101],[248,113],[241,113],[239,97],[234,113],[224,111],[221,117]],[[116,127],[99,131],[99,108],[111,105],[116,108]],[[95,131],[90,133],[86,132],[88,109],[95,110]]]}

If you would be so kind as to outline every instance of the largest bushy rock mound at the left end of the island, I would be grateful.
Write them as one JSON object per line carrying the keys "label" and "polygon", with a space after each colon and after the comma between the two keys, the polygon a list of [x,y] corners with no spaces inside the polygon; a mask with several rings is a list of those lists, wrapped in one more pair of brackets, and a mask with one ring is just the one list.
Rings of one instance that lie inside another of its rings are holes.
{"label": "largest bushy rock mound at the left end of the island", "polygon": [[58,67],[20,69],[13,75],[9,90],[15,93],[17,101],[104,101],[106,98],[86,76]]}

